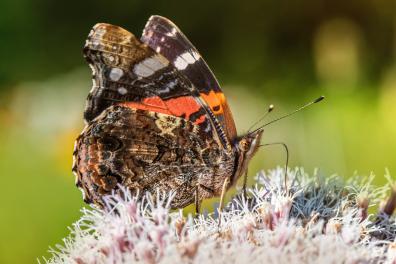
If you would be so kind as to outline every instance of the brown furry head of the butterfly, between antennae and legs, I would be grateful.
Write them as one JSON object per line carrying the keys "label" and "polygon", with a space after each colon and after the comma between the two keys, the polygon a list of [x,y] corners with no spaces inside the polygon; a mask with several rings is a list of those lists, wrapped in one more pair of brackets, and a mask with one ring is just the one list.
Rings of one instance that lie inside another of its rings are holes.
{"label": "brown furry head of the butterfly, between antennae and legs", "polygon": [[263,132],[263,129],[258,129],[236,140],[234,146],[237,153],[237,167],[235,168],[235,173],[231,181],[233,184],[239,179],[241,175],[246,172],[249,161],[252,159],[260,146]]}

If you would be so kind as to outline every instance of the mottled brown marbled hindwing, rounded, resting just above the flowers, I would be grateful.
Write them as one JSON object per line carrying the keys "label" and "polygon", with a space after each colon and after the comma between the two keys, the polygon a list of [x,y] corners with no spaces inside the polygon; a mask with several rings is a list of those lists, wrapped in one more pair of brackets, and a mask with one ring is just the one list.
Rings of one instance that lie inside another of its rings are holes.
{"label": "mottled brown marbled hindwing, rounded, resting just above the flowers", "polygon": [[76,141],[73,170],[85,201],[103,205],[102,196],[117,184],[132,192],[175,191],[172,207],[218,195],[222,177],[233,171],[233,156],[199,126],[183,118],[111,106]]}

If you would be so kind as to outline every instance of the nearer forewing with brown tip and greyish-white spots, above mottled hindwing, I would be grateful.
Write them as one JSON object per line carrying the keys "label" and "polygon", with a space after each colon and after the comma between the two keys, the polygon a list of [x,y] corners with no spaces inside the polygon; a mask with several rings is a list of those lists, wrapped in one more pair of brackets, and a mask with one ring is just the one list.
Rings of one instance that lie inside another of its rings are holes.
{"label": "nearer forewing with brown tip and greyish-white spots, above mottled hindwing", "polygon": [[[84,56],[93,71],[93,87],[84,113],[87,122],[107,107],[125,102],[171,113],[166,100],[191,96],[193,91],[191,82],[165,57],[121,27],[95,25],[84,47]],[[190,108],[199,107],[195,103]]]}

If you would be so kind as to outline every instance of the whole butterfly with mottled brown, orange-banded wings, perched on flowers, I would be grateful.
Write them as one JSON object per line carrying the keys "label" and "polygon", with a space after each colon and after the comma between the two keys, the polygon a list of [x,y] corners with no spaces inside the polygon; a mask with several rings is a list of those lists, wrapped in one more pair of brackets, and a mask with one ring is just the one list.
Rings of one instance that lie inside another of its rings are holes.
{"label": "whole butterfly with mottled brown, orange-banded wings, perched on flowers", "polygon": [[73,172],[84,201],[119,191],[173,192],[172,208],[224,196],[246,173],[263,129],[238,136],[230,107],[197,49],[152,16],[140,39],[96,24],[84,47],[93,86]]}

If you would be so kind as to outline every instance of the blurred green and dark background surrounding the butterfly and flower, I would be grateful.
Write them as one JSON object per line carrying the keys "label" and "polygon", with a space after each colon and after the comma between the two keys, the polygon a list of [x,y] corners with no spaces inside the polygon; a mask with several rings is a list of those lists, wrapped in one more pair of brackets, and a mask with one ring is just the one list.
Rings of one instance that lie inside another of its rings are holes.
{"label": "blurred green and dark background surrounding the butterfly and flower", "polygon": [[[61,242],[83,206],[71,173],[91,73],[82,46],[97,22],[137,36],[152,14],[173,20],[216,73],[240,133],[267,127],[291,165],[395,175],[396,8],[388,0],[0,2],[0,263],[31,263]],[[249,170],[283,165],[263,148]]]}

